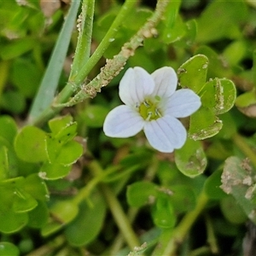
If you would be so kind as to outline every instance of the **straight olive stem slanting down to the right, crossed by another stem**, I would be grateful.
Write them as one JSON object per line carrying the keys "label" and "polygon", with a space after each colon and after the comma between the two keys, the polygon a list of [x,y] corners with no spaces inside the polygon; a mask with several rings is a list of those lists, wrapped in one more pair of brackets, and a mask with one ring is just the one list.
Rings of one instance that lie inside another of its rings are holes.
{"label": "straight olive stem slanting down to the right, crossed by another stem", "polygon": [[[89,165],[90,171],[95,175],[102,175],[102,167],[98,164],[97,161],[91,161]],[[105,184],[100,184],[100,189],[102,190],[102,195],[104,195],[106,201],[108,202],[108,207],[113,214],[113,218],[116,221],[116,224],[119,227],[119,230],[122,232],[125,237],[125,241],[133,249],[140,245],[136,234],[131,228],[129,219],[126,217],[125,212],[119,204],[116,196],[113,194],[112,190],[108,188]]]}

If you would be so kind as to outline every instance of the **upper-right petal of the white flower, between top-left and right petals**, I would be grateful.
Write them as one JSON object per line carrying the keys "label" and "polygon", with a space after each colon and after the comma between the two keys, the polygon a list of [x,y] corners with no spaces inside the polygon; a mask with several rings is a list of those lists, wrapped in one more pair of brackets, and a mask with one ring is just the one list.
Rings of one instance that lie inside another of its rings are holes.
{"label": "upper-right petal of the white flower, between top-left and right petals", "polygon": [[161,67],[151,74],[154,79],[154,96],[172,96],[177,88],[177,74],[172,67]]}

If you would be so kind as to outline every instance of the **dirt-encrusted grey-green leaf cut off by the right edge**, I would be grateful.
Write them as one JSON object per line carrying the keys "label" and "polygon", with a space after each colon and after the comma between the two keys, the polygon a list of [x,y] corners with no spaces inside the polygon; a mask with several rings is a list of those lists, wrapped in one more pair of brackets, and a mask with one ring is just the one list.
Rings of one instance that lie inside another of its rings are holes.
{"label": "dirt-encrusted grey-green leaf cut off by the right edge", "polygon": [[225,160],[221,176],[221,189],[228,195],[233,195],[236,203],[240,205],[247,217],[256,224],[256,201],[253,201],[256,196],[254,177],[255,170],[248,160],[241,160],[236,156]]}

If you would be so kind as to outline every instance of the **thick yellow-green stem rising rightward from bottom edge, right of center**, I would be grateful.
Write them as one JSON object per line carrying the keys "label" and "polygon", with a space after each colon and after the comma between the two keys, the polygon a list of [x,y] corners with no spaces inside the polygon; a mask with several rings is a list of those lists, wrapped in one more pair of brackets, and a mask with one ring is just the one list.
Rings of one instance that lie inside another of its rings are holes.
{"label": "thick yellow-green stem rising rightward from bottom edge, right of center", "polygon": [[160,241],[159,245],[155,247],[155,250],[152,255],[160,256],[160,255],[176,255],[177,246],[181,244],[188,234],[191,226],[195,223],[195,219],[201,214],[203,209],[207,204],[207,195],[203,192],[198,198],[195,210],[192,212],[188,212],[178,224],[177,228],[174,230],[165,230],[163,231],[163,236],[166,235],[169,237],[165,237],[165,240]]}

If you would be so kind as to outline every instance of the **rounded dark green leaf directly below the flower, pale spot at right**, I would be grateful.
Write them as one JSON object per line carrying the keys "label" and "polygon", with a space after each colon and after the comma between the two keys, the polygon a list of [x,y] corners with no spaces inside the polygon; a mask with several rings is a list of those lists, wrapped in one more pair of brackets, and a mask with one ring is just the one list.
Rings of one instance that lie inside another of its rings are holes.
{"label": "rounded dark green leaf directly below the flower, pale spot at right", "polygon": [[128,186],[127,202],[131,207],[143,207],[152,203],[157,195],[158,186],[149,182],[137,182]]}

